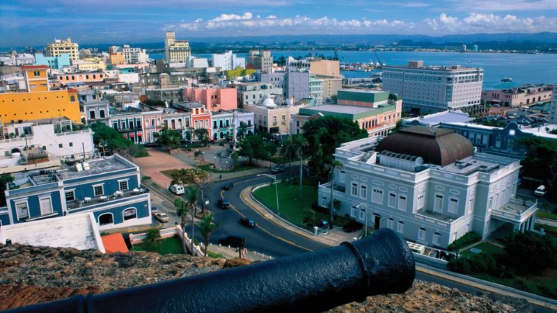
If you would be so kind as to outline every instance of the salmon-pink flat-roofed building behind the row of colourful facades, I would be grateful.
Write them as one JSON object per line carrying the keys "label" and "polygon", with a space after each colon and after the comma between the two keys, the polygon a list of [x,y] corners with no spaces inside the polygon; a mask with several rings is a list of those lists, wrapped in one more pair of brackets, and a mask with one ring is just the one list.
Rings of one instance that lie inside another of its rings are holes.
{"label": "salmon-pink flat-roofed building behind the row of colourful facades", "polygon": [[184,100],[187,102],[199,102],[209,111],[237,109],[235,88],[184,88]]}

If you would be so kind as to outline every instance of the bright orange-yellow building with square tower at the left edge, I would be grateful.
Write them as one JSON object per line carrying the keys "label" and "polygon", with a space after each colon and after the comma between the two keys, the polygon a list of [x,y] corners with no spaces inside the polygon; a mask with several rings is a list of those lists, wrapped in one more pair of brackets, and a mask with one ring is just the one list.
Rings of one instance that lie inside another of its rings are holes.
{"label": "bright orange-yellow building with square tower at the left edge", "polygon": [[27,90],[24,93],[0,93],[0,121],[41,120],[67,117],[81,122],[77,93],[49,90],[47,65],[22,66]]}

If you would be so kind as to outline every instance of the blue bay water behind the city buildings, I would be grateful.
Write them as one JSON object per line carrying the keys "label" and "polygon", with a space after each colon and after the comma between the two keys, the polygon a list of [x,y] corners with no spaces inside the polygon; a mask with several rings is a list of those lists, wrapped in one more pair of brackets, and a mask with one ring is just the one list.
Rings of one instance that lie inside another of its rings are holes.
{"label": "blue bay water behind the city buildings", "polygon": [[[275,58],[284,56],[306,56],[310,51],[272,51]],[[315,54],[334,56],[334,51],[314,51]],[[408,61],[423,61],[425,65],[463,65],[483,67],[484,89],[501,89],[521,86],[525,83],[557,83],[557,54],[503,54],[503,53],[461,53],[422,51],[337,51],[341,63],[385,62],[387,65],[407,65]],[[164,54],[151,54],[151,58],[163,58]],[[210,58],[210,54],[194,54]],[[247,57],[247,54],[238,54]],[[343,72],[345,77],[369,77],[370,72]],[[503,83],[503,77],[511,77],[512,82]]]}

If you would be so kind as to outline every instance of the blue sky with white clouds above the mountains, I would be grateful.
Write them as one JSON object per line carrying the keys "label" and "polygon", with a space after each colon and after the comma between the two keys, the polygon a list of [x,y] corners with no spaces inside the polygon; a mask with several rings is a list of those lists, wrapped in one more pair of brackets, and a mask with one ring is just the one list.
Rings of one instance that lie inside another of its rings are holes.
{"label": "blue sky with white clouds above the mountains", "polygon": [[279,34],[557,32],[557,0],[2,0],[0,47]]}

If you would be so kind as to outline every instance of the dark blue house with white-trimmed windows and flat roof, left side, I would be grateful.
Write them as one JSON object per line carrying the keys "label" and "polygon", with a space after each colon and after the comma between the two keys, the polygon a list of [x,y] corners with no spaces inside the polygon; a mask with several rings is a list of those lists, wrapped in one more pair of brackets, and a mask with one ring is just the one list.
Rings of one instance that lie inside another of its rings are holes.
{"label": "dark blue house with white-trimmed windows and flat roof, left side", "polygon": [[100,230],[149,225],[150,194],[139,167],[114,154],[54,170],[31,170],[8,184],[2,225],[93,213]]}

